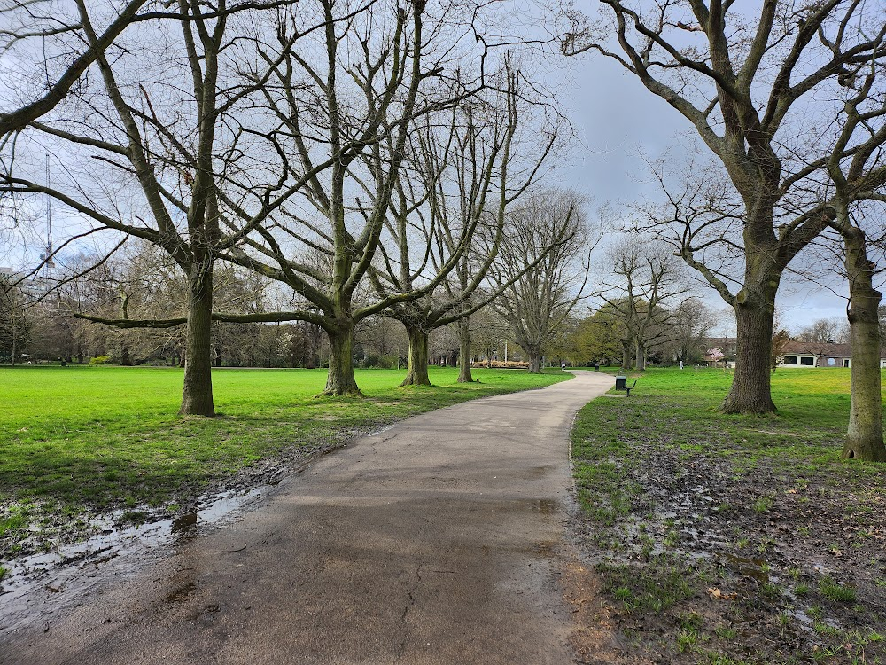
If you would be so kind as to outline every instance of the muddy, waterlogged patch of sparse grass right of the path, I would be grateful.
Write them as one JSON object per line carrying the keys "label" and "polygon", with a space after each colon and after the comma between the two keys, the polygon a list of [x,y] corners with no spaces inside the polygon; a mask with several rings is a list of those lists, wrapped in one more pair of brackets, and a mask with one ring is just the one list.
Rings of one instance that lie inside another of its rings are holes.
{"label": "muddy, waterlogged patch of sparse grass right of the path", "polygon": [[779,419],[749,441],[660,397],[600,402],[573,433],[572,542],[614,631],[608,662],[886,662],[881,469]]}

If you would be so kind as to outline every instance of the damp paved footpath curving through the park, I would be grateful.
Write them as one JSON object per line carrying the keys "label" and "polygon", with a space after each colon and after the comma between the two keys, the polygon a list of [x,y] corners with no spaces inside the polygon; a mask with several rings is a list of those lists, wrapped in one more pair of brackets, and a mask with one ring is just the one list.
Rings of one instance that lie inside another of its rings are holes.
{"label": "damp paved footpath curving through the park", "polygon": [[552,548],[595,372],[349,443],[267,505],[0,644],[2,663],[563,665]]}

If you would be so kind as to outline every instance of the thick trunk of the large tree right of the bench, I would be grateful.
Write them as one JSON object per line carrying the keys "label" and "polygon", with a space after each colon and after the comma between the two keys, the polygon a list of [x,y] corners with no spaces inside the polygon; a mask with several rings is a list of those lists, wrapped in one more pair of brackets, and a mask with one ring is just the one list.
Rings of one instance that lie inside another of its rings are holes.
{"label": "thick trunk of the large tree right of the bench", "polygon": [[[724,413],[773,413],[770,393],[769,352],[773,340],[775,292],[779,273],[767,276],[766,288],[742,289],[735,299],[737,344],[732,387],[723,403]],[[723,360],[726,366],[726,359]]]}

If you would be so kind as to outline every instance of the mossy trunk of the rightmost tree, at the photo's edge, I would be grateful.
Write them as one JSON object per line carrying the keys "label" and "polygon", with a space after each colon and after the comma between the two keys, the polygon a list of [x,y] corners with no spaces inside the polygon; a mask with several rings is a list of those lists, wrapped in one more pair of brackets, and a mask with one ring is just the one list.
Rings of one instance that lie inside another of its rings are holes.
{"label": "mossy trunk of the rightmost tree, at the photo's edge", "polygon": [[880,393],[880,325],[882,293],[874,289],[874,264],[867,259],[864,231],[843,225],[846,273],[849,275],[849,342],[851,401],[843,459],[886,462]]}

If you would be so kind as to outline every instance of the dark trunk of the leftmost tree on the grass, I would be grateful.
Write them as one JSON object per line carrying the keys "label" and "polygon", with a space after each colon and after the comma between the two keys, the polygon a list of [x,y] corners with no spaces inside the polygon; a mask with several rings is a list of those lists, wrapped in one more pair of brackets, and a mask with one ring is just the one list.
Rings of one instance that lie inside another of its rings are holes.
{"label": "dark trunk of the leftmost tree on the grass", "polygon": [[213,268],[195,266],[188,278],[182,416],[215,415],[212,377]]}

